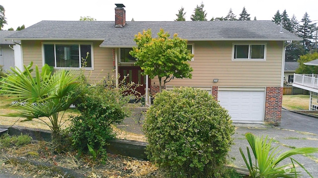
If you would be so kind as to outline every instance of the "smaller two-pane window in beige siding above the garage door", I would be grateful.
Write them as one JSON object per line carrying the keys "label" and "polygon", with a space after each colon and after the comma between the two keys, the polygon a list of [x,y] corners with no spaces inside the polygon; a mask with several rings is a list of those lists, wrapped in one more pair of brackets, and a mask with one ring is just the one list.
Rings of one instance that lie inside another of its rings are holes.
{"label": "smaller two-pane window in beige siding above the garage door", "polygon": [[234,44],[233,59],[234,60],[265,60],[266,45],[265,44]]}

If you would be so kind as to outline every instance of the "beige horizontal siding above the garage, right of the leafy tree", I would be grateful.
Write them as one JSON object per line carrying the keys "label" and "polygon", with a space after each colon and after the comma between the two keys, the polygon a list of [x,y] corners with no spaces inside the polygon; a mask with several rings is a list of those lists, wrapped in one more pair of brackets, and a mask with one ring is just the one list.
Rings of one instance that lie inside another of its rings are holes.
{"label": "beige horizontal siding above the garage, right of the leafy tree", "polygon": [[[280,86],[282,42],[266,43],[265,61],[233,61],[232,45],[239,42],[191,42],[194,44],[192,79],[173,79],[174,86]],[[251,42],[255,43],[255,42]],[[213,79],[219,79],[214,83]],[[152,84],[159,84],[158,78]]]}

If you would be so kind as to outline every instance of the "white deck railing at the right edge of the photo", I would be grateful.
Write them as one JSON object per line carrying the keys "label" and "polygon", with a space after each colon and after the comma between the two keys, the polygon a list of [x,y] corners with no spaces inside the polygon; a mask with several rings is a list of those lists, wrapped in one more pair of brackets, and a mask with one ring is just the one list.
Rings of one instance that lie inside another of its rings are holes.
{"label": "white deck railing at the right edge of the photo", "polygon": [[318,74],[296,74],[294,73],[294,82],[310,88],[318,89]]}

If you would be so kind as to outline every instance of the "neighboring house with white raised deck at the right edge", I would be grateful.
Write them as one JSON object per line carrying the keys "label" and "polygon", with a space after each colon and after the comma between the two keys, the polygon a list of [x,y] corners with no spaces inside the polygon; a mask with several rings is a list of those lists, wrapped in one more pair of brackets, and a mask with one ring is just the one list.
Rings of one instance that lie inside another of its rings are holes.
{"label": "neighboring house with white raised deck at the right edge", "polygon": [[[318,59],[304,63],[318,66]],[[318,110],[318,74],[294,74],[294,87],[310,91],[309,110]]]}

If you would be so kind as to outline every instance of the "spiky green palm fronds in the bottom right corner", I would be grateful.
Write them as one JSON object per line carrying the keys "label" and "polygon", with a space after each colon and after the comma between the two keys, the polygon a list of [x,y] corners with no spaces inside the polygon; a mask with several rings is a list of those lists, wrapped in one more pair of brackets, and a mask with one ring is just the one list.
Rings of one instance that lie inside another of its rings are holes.
{"label": "spiky green palm fronds in the bottom right corner", "polygon": [[[302,167],[307,174],[313,178],[313,176],[305,169],[305,167],[295,159],[291,158],[291,156],[315,153],[318,152],[318,148],[295,148],[281,153],[282,150],[277,150],[278,146],[271,146],[272,139],[268,140],[267,142],[267,136],[264,138],[263,136],[258,137],[252,133],[246,133],[245,138],[252,149],[255,163],[252,163],[252,158],[248,147],[246,147],[248,161],[241,148],[239,148],[239,151],[243,157],[251,178],[297,178],[297,176],[299,176],[299,172],[295,169],[294,162]],[[282,161],[288,158],[291,160],[291,163],[282,165]]]}

